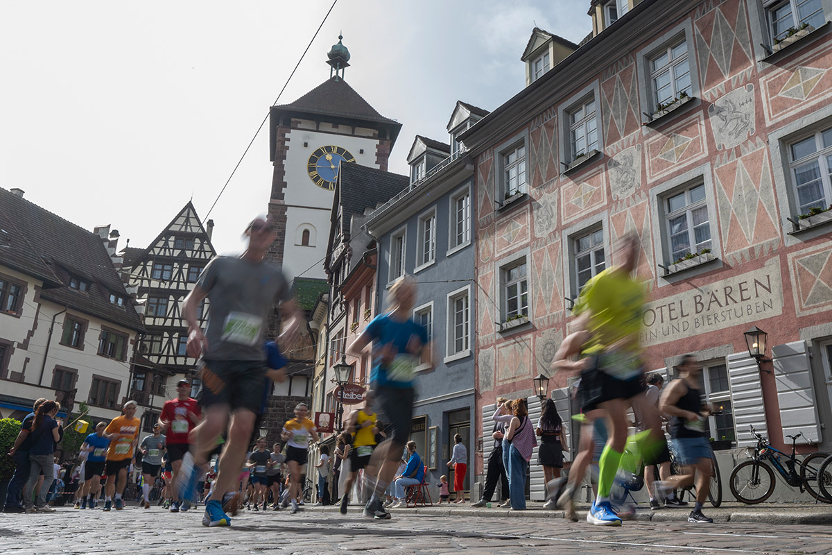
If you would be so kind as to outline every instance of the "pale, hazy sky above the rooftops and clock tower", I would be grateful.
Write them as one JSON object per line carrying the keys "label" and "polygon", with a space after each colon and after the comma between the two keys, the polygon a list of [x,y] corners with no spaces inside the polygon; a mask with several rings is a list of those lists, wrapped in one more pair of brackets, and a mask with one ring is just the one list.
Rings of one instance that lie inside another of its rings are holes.
{"label": "pale, hazy sky above the rooftops and clock tower", "polygon": [[[0,18],[0,187],[119,248],[146,247],[191,200],[203,221],[331,0],[5,2]],[[278,104],[329,78],[343,32],[346,81],[414,135],[448,141],[457,100],[487,110],[525,86],[532,28],[572,42],[589,0],[338,0]],[[210,219],[222,253],[270,195],[268,123]]]}

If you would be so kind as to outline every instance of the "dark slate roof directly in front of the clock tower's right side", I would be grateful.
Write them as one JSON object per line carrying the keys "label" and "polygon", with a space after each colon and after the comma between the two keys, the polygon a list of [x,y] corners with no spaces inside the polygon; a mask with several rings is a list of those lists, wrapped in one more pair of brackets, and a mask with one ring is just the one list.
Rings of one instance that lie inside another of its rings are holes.
{"label": "dark slate roof directly in front of the clock tower's right side", "polygon": [[365,208],[387,201],[410,185],[409,176],[358,164],[341,164],[338,174],[344,234],[349,234],[349,221],[354,214],[364,214]]}

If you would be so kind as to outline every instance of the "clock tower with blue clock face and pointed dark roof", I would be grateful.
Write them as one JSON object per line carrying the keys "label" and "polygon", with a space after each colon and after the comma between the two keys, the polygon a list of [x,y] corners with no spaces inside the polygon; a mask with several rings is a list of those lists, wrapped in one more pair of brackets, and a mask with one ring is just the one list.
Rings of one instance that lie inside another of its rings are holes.
{"label": "clock tower with blue clock face and pointed dark roof", "polygon": [[401,129],[344,81],[349,50],[338,39],[327,55],[329,79],[295,102],[270,109],[275,170],[269,213],[278,231],[270,256],[290,280],[326,279],[323,259],[339,166],[386,171]]}

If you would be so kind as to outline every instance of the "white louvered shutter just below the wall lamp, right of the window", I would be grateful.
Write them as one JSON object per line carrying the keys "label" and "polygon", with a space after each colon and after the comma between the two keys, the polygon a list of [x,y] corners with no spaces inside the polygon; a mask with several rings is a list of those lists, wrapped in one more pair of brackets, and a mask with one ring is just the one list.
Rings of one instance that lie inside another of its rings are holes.
{"label": "white louvered shutter just below the wall lamp, right of the window", "polygon": [[757,361],[747,353],[729,354],[728,381],[734,403],[736,443],[739,447],[753,446],[757,440],[748,429],[749,425],[753,425],[758,434],[768,434]]}

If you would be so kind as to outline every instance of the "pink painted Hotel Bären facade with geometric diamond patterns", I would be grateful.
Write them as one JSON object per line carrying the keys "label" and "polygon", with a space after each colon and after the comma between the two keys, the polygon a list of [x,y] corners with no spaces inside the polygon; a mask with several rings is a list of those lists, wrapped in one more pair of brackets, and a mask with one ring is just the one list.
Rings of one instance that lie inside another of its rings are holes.
{"label": "pink painted Hotel B\u00e4ren facade with geometric diamond patterns", "polygon": [[[644,0],[614,19],[607,3],[591,3],[577,49],[461,136],[476,163],[478,411],[552,374],[580,286],[634,231],[648,369],[704,362],[721,447],[750,444],[753,424],[776,446],[800,431],[805,451],[829,450],[832,2]],[[551,375],[564,416],[570,381]],[[717,453],[730,468],[735,452]]]}

